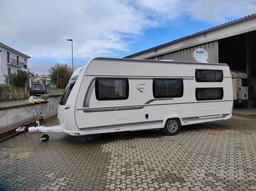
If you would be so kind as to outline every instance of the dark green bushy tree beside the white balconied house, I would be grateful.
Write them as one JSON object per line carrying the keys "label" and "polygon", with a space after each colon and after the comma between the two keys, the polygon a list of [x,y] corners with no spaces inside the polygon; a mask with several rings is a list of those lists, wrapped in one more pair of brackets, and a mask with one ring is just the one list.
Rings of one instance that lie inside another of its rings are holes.
{"label": "dark green bushy tree beside the white balconied house", "polygon": [[[28,74],[26,71],[18,71],[17,73],[10,74],[10,84],[16,87],[25,87],[28,81]],[[8,76],[6,76],[6,83],[8,82]]]}

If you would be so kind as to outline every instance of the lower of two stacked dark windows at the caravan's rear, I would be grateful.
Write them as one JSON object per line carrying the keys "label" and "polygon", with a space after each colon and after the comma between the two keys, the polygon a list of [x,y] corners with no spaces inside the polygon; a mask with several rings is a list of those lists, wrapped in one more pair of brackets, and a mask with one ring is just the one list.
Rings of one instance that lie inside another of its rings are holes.
{"label": "lower of two stacked dark windows at the caravan's rear", "polygon": [[196,88],[196,100],[222,100],[223,88]]}

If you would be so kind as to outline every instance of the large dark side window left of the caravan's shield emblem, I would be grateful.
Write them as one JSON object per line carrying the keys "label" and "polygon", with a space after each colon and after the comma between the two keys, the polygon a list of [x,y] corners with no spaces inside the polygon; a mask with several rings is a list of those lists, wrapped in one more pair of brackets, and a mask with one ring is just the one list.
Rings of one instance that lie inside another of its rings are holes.
{"label": "large dark side window left of the caravan's shield emblem", "polygon": [[128,79],[96,79],[97,100],[126,100],[129,94]]}

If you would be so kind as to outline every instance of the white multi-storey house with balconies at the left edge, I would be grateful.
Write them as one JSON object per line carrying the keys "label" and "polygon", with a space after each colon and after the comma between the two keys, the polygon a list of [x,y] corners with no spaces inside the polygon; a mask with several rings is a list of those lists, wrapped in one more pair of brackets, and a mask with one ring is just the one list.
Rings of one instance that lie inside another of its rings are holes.
{"label": "white multi-storey house with balconies at the left edge", "polygon": [[28,59],[28,55],[0,42],[0,83],[6,83],[6,76],[9,74],[20,70],[28,71]]}

